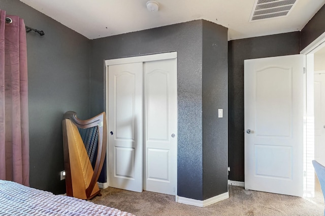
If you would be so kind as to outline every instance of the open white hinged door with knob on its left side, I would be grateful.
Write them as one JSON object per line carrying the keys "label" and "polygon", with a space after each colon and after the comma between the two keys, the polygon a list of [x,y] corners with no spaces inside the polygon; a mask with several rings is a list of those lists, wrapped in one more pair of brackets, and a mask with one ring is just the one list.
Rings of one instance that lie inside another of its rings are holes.
{"label": "open white hinged door with knob on its left side", "polygon": [[305,56],[245,60],[245,189],[303,196]]}

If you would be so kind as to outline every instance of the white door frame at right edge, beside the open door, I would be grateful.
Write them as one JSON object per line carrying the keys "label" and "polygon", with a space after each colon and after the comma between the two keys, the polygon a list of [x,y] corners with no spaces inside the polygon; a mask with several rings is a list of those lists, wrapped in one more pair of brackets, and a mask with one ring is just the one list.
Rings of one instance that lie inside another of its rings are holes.
{"label": "white door frame at right edge, beside the open door", "polygon": [[312,41],[300,54],[306,55],[306,133],[304,133],[304,196],[314,197],[314,53],[325,47],[325,32]]}

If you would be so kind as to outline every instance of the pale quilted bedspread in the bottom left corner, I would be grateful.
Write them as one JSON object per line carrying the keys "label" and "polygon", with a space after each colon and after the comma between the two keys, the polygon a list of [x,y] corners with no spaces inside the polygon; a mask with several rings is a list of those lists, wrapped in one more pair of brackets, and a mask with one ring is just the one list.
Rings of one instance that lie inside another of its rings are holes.
{"label": "pale quilted bedspread in the bottom left corner", "polygon": [[0,180],[0,215],[133,215],[74,197]]}

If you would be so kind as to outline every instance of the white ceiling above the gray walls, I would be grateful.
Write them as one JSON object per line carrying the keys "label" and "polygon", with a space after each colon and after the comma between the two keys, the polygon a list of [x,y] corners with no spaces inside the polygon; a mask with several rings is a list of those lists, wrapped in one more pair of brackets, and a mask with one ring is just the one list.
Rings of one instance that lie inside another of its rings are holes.
{"label": "white ceiling above the gray walls", "polygon": [[[300,31],[325,0],[297,0],[285,17],[249,22],[255,0],[20,0],[89,39],[204,19],[229,28],[228,39]],[[278,0],[274,0],[278,1]]]}

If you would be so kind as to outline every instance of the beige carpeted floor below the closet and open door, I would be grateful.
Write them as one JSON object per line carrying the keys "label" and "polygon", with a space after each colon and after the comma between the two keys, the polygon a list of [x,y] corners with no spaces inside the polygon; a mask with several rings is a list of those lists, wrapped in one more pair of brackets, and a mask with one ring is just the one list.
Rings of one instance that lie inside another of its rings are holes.
{"label": "beige carpeted floor below the closet and open door", "polygon": [[324,199],[321,191],[314,198],[245,190],[229,186],[229,198],[206,207],[175,202],[175,196],[143,191],[142,193],[116,188],[102,190],[103,196],[91,201],[145,215],[323,215]]}

